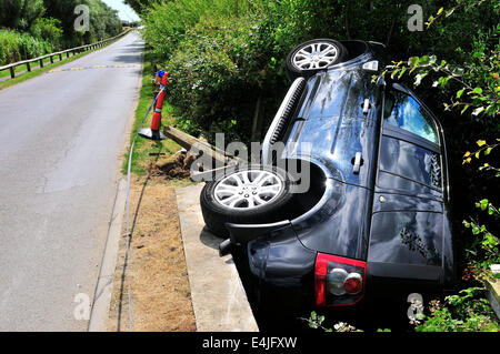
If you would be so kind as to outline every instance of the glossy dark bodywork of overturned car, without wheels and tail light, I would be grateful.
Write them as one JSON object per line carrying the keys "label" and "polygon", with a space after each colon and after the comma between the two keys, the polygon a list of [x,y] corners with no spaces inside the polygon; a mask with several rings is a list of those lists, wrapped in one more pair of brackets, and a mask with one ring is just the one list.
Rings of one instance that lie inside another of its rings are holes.
{"label": "glossy dark bodywork of overturned car, without wheels and tail light", "polygon": [[[373,60],[384,67],[380,45],[343,43],[364,51],[309,79],[283,136],[282,158],[310,161],[324,174],[319,202],[282,223],[228,224],[249,274],[272,286],[280,305],[313,305],[318,252],[367,262],[368,297],[391,284],[401,297],[453,283],[441,125],[409,89],[374,82],[376,72],[363,69]],[[436,127],[406,127],[408,110]]]}

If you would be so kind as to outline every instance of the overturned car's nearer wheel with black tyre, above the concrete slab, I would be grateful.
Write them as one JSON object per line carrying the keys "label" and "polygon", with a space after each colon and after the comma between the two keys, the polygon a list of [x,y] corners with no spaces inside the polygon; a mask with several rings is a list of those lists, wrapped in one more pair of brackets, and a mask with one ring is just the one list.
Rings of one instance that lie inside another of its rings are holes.
{"label": "overturned car's nearer wheel with black tyre, above the concrete slab", "polygon": [[228,237],[226,223],[256,224],[287,220],[291,179],[276,166],[244,166],[204,185],[200,195],[207,227]]}

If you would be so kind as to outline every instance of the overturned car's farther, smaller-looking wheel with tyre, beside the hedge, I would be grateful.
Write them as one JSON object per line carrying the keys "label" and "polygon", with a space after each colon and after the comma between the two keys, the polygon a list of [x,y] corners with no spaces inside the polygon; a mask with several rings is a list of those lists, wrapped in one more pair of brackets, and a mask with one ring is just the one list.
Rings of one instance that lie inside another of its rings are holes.
{"label": "overturned car's farther, smaller-looking wheel with tyre, beside the hedge", "polygon": [[288,75],[309,78],[320,70],[346,60],[348,51],[331,39],[313,39],[296,47],[287,57]]}

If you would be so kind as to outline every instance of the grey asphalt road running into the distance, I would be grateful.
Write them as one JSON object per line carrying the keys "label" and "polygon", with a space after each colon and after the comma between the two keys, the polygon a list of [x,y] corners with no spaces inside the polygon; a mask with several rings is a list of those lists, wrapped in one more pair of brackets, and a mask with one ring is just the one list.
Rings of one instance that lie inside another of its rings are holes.
{"label": "grey asphalt road running into the distance", "polygon": [[142,50],[132,33],[0,91],[0,331],[87,330]]}

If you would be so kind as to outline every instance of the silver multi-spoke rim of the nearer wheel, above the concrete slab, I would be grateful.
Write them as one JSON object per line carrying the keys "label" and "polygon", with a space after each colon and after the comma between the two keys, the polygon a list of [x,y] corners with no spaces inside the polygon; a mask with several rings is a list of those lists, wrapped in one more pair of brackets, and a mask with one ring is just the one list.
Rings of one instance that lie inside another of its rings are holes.
{"label": "silver multi-spoke rim of the nearer wheel, above the concrete slab", "polygon": [[226,208],[248,210],[272,202],[283,188],[283,182],[276,173],[247,170],[222,179],[213,194],[216,201]]}

